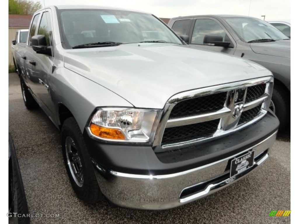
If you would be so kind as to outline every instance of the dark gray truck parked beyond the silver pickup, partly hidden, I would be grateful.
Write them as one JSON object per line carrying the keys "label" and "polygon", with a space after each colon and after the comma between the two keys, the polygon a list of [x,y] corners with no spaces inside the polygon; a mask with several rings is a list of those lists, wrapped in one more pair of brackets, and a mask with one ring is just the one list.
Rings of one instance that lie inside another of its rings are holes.
{"label": "dark gray truck parked beyond the silver pickup, partly hidden", "polygon": [[280,128],[289,124],[289,37],[271,24],[248,16],[184,16],[170,19],[168,25],[192,48],[231,54],[268,68],[275,78],[271,109]]}

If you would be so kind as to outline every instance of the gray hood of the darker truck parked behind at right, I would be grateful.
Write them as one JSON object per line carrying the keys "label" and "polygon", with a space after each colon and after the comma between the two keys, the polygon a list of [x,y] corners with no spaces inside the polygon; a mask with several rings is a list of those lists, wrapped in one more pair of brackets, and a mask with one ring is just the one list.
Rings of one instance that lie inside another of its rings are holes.
{"label": "gray hood of the darker truck parked behind at right", "polygon": [[266,54],[284,58],[291,58],[291,41],[277,40],[275,42],[251,43],[251,49],[257,54]]}

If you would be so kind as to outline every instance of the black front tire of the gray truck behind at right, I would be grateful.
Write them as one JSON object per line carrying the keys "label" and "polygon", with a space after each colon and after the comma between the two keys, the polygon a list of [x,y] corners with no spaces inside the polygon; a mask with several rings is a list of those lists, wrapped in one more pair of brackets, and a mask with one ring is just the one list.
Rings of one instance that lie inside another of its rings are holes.
{"label": "black front tire of the gray truck behind at right", "polygon": [[272,102],[275,108],[275,115],[280,122],[279,129],[282,130],[290,123],[290,94],[280,85],[274,84]]}

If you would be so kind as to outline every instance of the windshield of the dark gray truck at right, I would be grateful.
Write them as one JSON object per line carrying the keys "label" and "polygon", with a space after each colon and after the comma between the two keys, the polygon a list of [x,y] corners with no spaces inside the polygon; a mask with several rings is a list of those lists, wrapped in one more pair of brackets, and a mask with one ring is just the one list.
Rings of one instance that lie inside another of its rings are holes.
{"label": "windshield of the dark gray truck at right", "polygon": [[223,19],[245,42],[289,40],[286,35],[261,19],[247,17],[229,17]]}

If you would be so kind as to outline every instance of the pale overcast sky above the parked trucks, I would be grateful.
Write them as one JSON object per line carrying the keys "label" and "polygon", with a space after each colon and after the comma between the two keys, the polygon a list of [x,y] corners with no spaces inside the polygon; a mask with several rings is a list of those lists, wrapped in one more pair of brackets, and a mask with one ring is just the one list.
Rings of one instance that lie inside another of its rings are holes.
{"label": "pale overcast sky above the parked trucks", "polygon": [[204,14],[248,16],[248,13],[257,18],[266,15],[266,20],[291,18],[290,0],[40,0],[42,5],[43,1],[46,6],[88,4],[141,10],[164,18]]}

